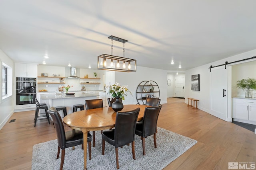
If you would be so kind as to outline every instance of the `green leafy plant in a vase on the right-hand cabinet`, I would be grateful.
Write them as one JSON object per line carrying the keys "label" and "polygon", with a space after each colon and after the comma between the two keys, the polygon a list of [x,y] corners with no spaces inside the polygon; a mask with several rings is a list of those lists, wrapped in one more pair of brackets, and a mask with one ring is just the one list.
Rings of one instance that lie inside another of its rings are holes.
{"label": "green leafy plant in a vase on the right-hand cabinet", "polygon": [[238,80],[236,82],[236,87],[246,90],[245,97],[252,98],[251,90],[256,90],[256,79],[254,78],[246,78],[242,80]]}

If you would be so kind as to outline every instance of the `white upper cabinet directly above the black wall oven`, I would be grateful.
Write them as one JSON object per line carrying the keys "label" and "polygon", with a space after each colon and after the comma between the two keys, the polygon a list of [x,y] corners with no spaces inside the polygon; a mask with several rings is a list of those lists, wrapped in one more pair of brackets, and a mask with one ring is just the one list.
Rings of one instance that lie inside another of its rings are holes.
{"label": "white upper cabinet directly above the black wall oven", "polygon": [[37,77],[37,64],[15,63],[16,77]]}

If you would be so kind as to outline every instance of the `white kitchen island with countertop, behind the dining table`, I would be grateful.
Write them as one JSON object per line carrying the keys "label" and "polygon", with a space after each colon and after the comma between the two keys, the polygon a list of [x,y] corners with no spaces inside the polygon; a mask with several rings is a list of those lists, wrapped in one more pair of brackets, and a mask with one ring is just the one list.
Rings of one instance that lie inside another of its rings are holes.
{"label": "white kitchen island with countertop, behind the dining table", "polygon": [[[85,104],[85,100],[96,99],[98,95],[76,92],[74,95],[66,94],[40,94],[40,103],[46,103],[48,108],[54,106],[66,106],[67,113],[70,114],[73,112],[74,104]],[[84,107],[85,108],[85,107]],[[60,116],[63,117],[62,111],[60,111]]]}

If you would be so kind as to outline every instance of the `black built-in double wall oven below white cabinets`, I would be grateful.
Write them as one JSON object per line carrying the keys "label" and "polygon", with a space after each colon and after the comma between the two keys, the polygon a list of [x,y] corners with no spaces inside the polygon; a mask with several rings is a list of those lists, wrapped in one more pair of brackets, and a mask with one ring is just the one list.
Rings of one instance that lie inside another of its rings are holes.
{"label": "black built-in double wall oven below white cabinets", "polygon": [[36,103],[36,78],[16,77],[16,105]]}

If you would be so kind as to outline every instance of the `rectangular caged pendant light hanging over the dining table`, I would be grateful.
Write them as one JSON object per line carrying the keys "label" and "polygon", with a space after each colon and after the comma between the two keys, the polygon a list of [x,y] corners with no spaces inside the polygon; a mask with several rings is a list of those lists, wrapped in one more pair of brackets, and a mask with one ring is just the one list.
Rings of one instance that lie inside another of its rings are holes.
{"label": "rectangular caged pendant light hanging over the dining table", "polygon": [[[128,59],[119,56],[113,55],[113,40],[119,41],[121,43],[126,43],[127,40],[115,37],[113,35],[109,36],[108,39],[111,39],[111,55],[102,54],[98,56],[98,70],[110,70],[110,71],[121,71],[121,72],[135,72],[137,68],[135,59]],[[124,52],[123,48],[123,52]],[[123,63],[122,67],[120,66],[120,62]],[[103,63],[103,64],[100,64]],[[128,64],[128,66],[126,66]]]}

